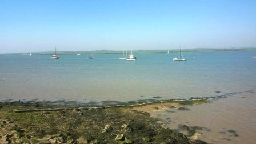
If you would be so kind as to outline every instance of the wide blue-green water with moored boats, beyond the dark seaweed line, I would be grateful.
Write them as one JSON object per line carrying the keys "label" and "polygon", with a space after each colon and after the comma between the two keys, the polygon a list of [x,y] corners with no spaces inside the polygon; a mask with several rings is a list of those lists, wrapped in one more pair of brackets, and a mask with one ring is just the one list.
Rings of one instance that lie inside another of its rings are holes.
{"label": "wide blue-green water with moored boats, beyond the dark seaweed line", "polygon": [[[256,51],[0,55],[0,100],[136,101],[209,97],[256,89]],[[195,57],[195,59],[193,58]],[[221,93],[216,93],[220,91]]]}

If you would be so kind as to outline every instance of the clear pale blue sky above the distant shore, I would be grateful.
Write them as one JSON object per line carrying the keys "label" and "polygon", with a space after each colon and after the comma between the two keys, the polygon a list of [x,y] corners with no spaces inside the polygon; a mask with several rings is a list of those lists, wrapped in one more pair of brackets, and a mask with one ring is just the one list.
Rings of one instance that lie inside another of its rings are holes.
{"label": "clear pale blue sky above the distant shore", "polygon": [[0,1],[0,53],[256,46],[256,1]]}

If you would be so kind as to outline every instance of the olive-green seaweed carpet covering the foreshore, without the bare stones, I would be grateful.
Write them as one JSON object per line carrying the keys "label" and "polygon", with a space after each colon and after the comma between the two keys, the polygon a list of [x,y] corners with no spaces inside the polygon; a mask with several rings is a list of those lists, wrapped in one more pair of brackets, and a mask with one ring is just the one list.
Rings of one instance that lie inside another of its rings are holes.
{"label": "olive-green seaweed carpet covering the foreshore, without the bare stones", "polygon": [[[31,106],[4,105],[0,109],[0,120],[13,120],[13,125],[5,125],[6,130],[21,128],[24,134],[33,136],[31,141],[51,135],[61,137],[63,142],[82,137],[89,143],[190,143],[190,139],[182,133],[163,128],[159,119],[150,117],[149,113],[132,111],[129,107],[10,113],[17,109],[31,109]],[[102,133],[106,125],[111,130]],[[117,141],[114,138],[119,134],[123,138]]]}

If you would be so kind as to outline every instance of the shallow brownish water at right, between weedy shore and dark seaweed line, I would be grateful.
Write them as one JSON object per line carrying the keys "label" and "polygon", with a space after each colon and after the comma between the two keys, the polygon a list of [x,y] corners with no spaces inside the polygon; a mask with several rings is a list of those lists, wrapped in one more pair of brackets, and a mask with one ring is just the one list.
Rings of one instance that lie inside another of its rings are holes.
{"label": "shallow brownish water at right, between weedy shore and dark seaweed line", "polygon": [[[255,143],[255,103],[256,91],[247,91],[189,106],[190,110],[167,108],[156,114],[166,119],[165,126],[170,129],[178,129],[179,124],[205,127],[205,130],[197,131],[202,133],[198,138],[209,143]],[[236,131],[237,137],[229,130]]]}

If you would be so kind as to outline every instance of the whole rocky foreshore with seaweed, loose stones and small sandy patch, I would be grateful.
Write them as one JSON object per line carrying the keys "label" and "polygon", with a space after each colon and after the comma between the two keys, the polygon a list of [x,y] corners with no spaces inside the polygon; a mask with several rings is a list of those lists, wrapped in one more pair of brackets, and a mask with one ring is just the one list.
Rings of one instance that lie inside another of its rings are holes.
{"label": "whole rocky foreshore with seaweed, loose stones and small sandy patch", "polygon": [[0,103],[0,143],[206,143],[150,117],[162,107],[201,102],[205,100],[68,109]]}

